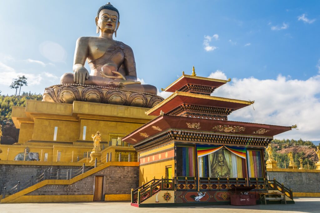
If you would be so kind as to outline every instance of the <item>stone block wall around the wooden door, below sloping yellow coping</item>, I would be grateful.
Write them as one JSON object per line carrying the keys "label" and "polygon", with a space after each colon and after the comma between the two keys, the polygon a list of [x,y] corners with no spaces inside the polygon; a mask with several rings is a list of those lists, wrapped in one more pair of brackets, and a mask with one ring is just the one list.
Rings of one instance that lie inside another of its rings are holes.
{"label": "stone block wall around the wooden door, below sloping yellow coping", "polygon": [[138,166],[108,166],[70,185],[46,185],[26,195],[74,195],[93,194],[95,176],[103,176],[105,194],[130,194],[138,187]]}

